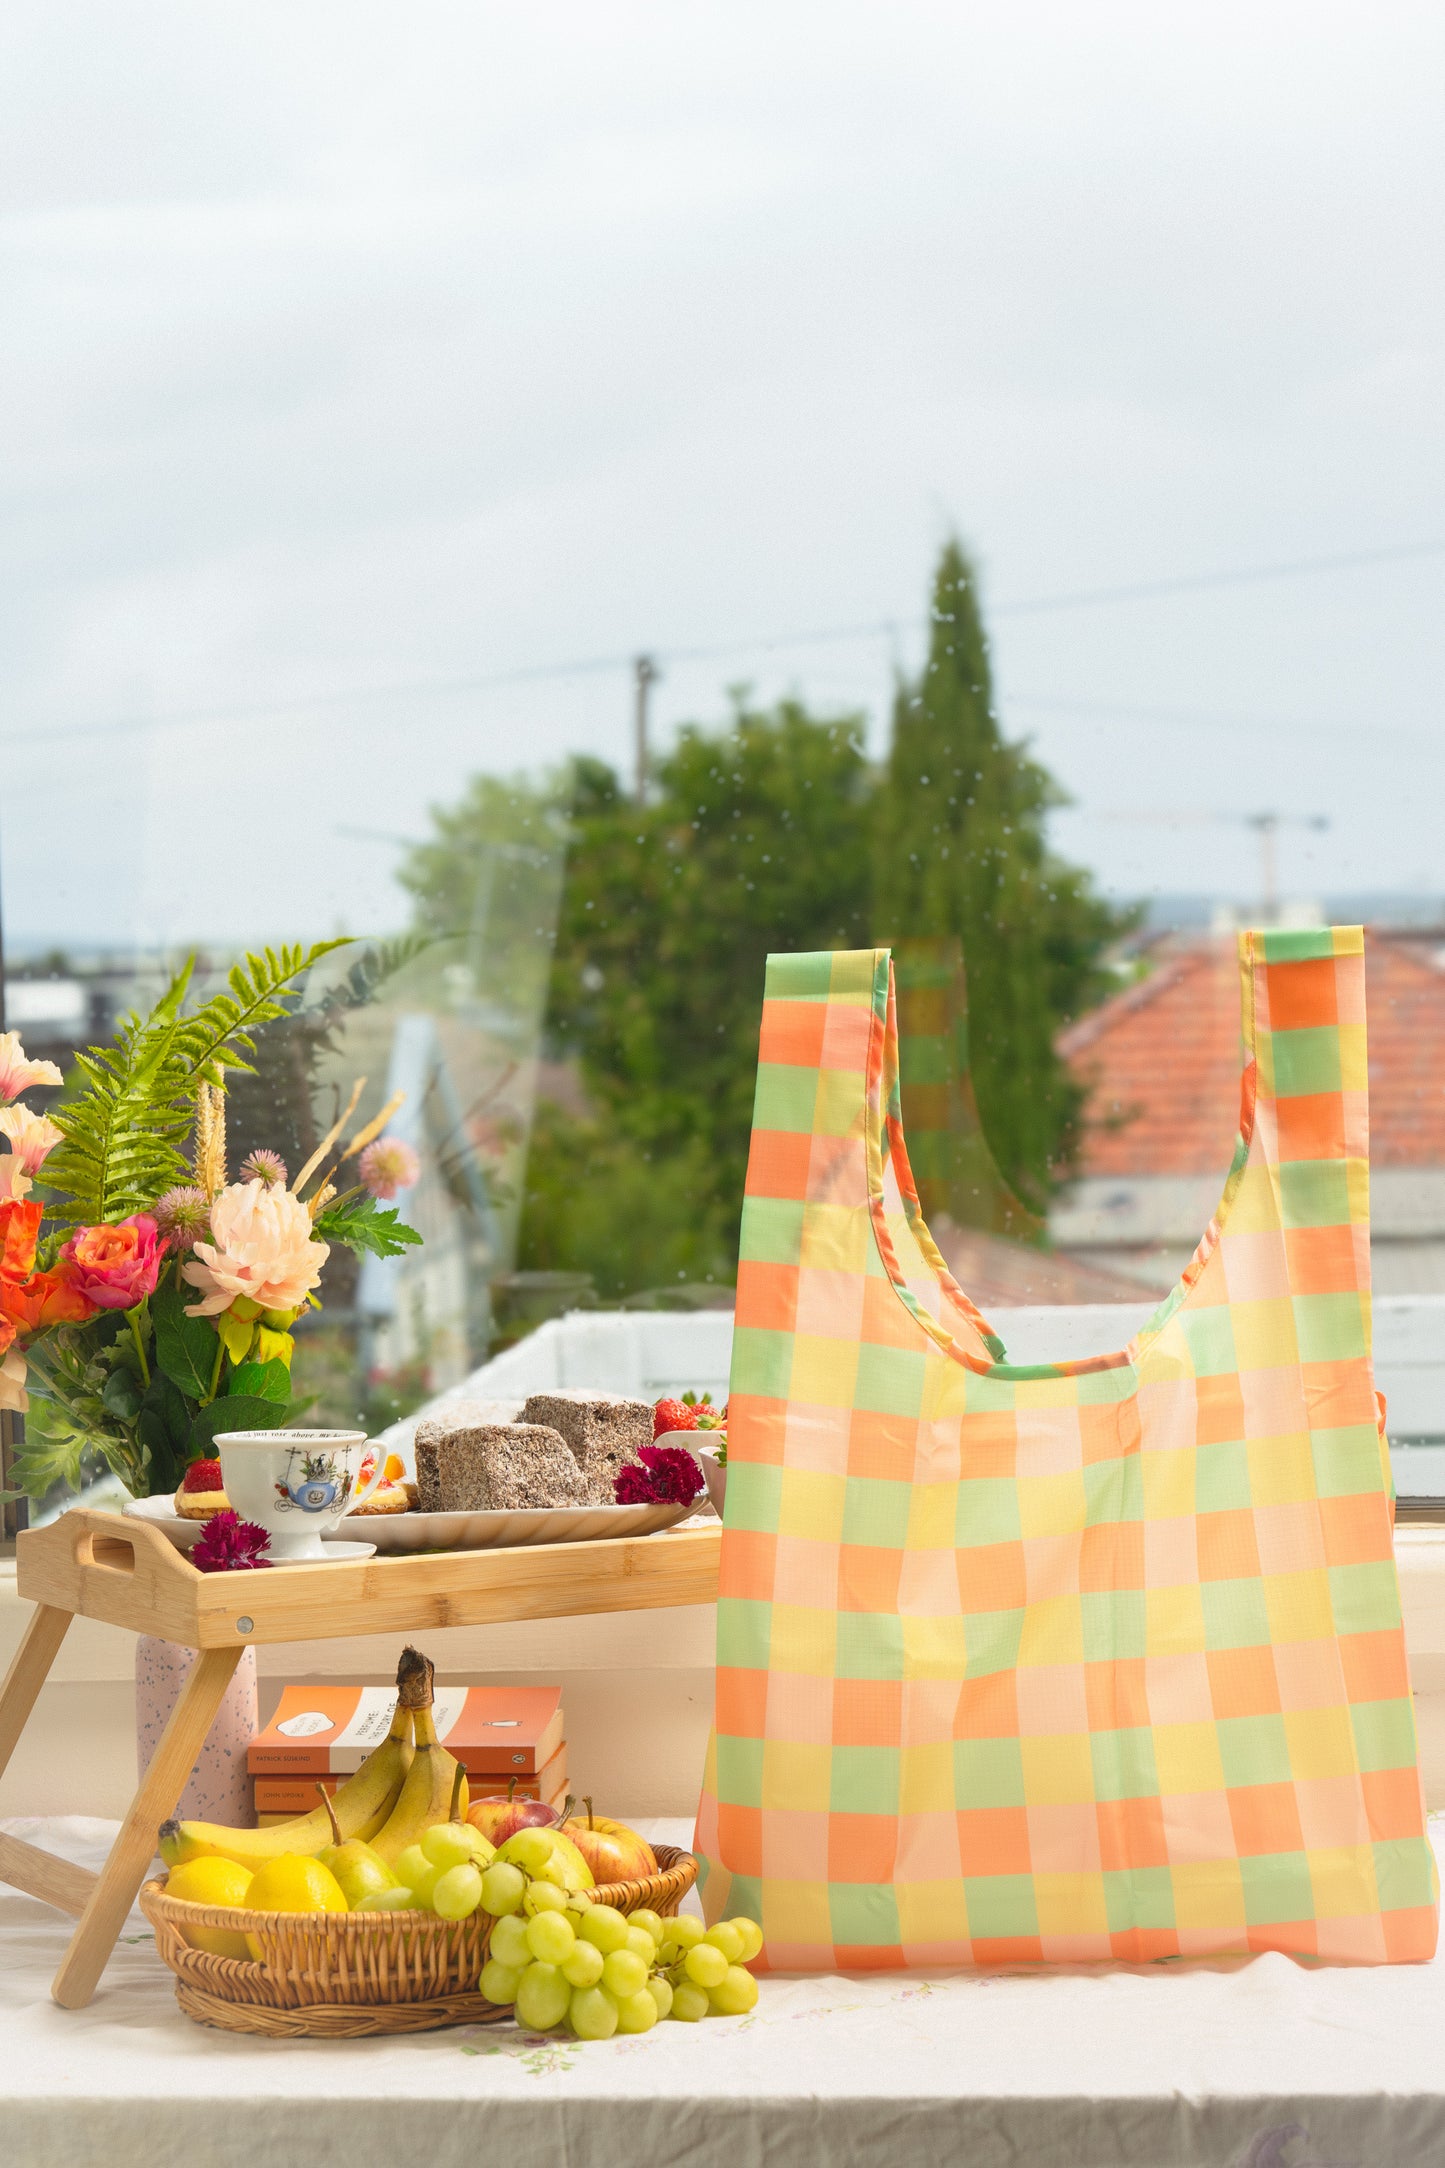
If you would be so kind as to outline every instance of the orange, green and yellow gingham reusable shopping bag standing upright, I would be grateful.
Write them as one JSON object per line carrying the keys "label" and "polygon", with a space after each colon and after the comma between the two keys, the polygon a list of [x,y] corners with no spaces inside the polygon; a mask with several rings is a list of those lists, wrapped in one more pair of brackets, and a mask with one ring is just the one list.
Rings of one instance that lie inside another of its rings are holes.
{"label": "orange, green and yellow gingham reusable shopping bag standing upright", "polygon": [[1027,1368],[923,1223],[888,952],[769,960],[698,1851],[773,1969],[1434,1951],[1365,941],[1239,954],[1215,1218],[1122,1355]]}

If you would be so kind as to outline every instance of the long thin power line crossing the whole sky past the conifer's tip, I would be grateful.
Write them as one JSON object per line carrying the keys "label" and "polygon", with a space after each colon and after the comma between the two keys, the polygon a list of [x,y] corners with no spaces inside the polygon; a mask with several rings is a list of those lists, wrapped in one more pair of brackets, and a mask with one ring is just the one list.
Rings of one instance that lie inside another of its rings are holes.
{"label": "long thin power line crossing the whole sky past the conifer's tip", "polygon": [[[1402,542],[1389,549],[1374,551],[1350,551],[1332,557],[1296,557],[1283,564],[1265,566],[1239,566],[1222,572],[1189,572],[1179,579],[1155,579],[1155,581],[1133,581],[1120,588],[1079,588],[1066,594],[1040,594],[1027,596],[1014,603],[997,603],[988,609],[990,618],[1020,618],[1020,616],[1044,616],[1049,611],[1064,609],[1098,609],[1114,603],[1142,603],[1155,601],[1172,594],[1202,594],[1211,588],[1248,588],[1263,585],[1267,581],[1280,579],[1306,579],[1315,572],[1348,572],[1361,570],[1376,564],[1404,564],[1421,557],[1445,555],[1445,542]],[[730,657],[743,655],[771,655],[789,648],[808,646],[834,646],[851,640],[880,640],[895,637],[901,627],[927,627],[929,618],[869,618],[858,624],[828,624],[812,631],[795,633],[765,633],[754,640],[732,640],[717,646],[693,646],[693,648],[656,648],[654,663],[700,663],[700,661],[728,661]],[[353,685],[334,692],[318,694],[295,694],[284,700],[249,702],[245,707],[208,707],[208,709],[180,709],[160,715],[117,715],[108,722],[76,722],[76,724],[39,724],[24,731],[0,733],[0,746],[35,744],[43,737],[45,744],[56,744],[61,739],[74,737],[128,737],[143,731],[171,731],[171,728],[199,728],[199,726],[221,726],[227,722],[253,722],[266,715],[299,715],[318,709],[353,707],[362,700],[403,700],[403,698],[451,698],[457,694],[474,692],[500,692],[509,685],[548,683],[559,679],[576,676],[600,676],[611,672],[633,672],[637,668],[635,655],[589,655],[578,661],[565,663],[531,663],[513,670],[494,670],[479,676],[459,679],[412,679],[392,685]],[[1018,702],[1044,707],[1062,702]]]}

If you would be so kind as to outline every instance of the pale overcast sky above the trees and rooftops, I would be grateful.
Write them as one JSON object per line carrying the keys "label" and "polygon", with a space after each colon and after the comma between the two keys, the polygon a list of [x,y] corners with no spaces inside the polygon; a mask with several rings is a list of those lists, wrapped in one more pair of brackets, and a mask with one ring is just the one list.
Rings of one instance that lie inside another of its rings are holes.
{"label": "pale overcast sky above the trees and rooftops", "polygon": [[951,529],[1111,889],[1248,895],[1280,809],[1287,889],[1445,891],[1445,553],[1010,609],[1445,542],[1443,22],[11,0],[11,941],[394,924],[468,772],[628,759],[620,668],[446,681],[882,748]]}

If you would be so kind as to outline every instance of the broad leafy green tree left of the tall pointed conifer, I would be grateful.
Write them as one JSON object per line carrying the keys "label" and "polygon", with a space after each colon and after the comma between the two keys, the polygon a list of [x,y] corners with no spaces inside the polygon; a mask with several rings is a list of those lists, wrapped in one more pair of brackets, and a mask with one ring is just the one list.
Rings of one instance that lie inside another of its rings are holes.
{"label": "broad leafy green tree left of the tall pointed conifer", "polygon": [[578,761],[548,1036],[594,1114],[539,1123],[522,1264],[732,1279],[763,967],[869,941],[869,820],[862,718],[791,700],[682,731],[646,806]]}

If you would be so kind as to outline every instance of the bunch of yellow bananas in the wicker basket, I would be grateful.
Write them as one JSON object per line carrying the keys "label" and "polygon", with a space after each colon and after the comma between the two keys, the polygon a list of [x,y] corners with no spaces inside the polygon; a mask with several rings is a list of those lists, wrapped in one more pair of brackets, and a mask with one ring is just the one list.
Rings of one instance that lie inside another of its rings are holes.
{"label": "bunch of yellow bananas in the wicker basket", "polygon": [[[394,1864],[422,1830],[446,1821],[457,1793],[457,1819],[466,1817],[466,1778],[455,1754],[435,1734],[431,1689],[435,1667],[420,1650],[405,1648],[396,1665],[396,1708],[392,1726],[355,1776],[338,1789],[331,1810],[314,1806],[295,1821],[269,1830],[227,1830],[219,1821],[165,1821],[160,1858],[167,1867],[186,1860],[236,1860],[262,1867],[284,1854],[316,1858],[327,1845],[360,1836],[386,1864]],[[331,1825],[336,1817],[336,1830]]]}

